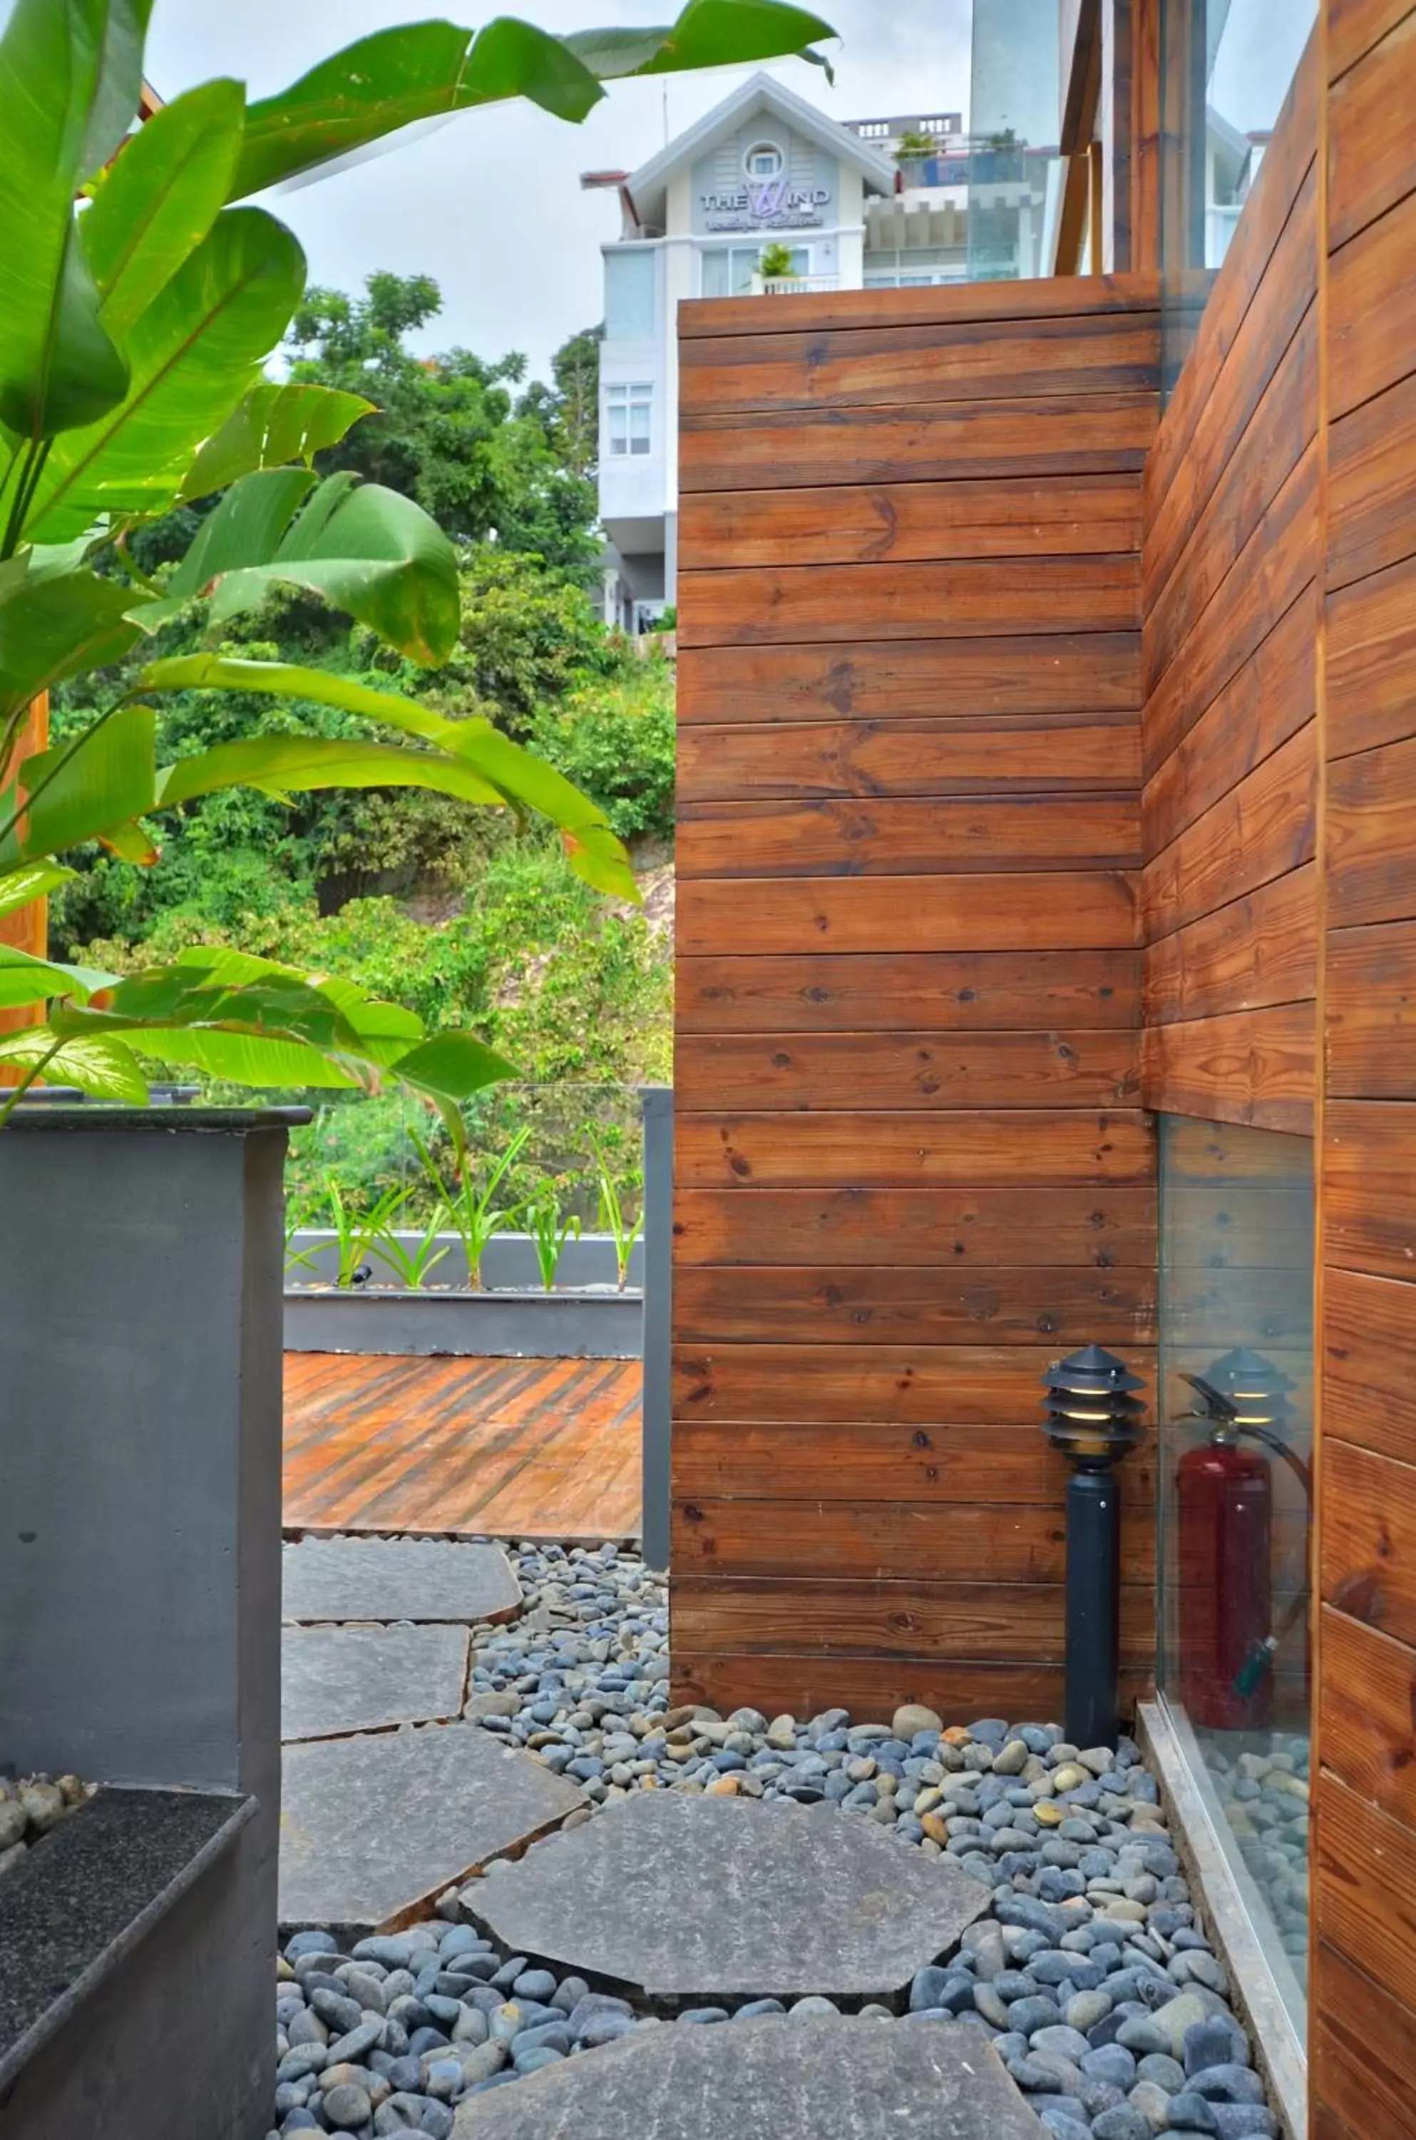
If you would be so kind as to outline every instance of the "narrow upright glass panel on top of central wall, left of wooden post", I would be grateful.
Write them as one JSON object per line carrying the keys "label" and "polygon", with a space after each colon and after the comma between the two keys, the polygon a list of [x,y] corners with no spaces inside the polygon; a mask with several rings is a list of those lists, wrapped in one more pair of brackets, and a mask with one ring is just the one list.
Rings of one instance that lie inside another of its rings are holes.
{"label": "narrow upright glass panel on top of central wall, left of wooden post", "polygon": [[969,282],[1052,270],[1046,208],[1059,96],[1057,0],[973,0]]}

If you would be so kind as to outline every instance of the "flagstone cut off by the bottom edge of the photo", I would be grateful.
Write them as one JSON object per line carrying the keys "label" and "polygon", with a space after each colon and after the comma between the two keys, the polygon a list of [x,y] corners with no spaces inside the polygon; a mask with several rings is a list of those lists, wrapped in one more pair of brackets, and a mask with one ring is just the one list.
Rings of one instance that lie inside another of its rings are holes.
{"label": "flagstone cut off by the bottom edge of the photo", "polygon": [[627,2134],[1048,2140],[982,2029],[843,2016],[644,2029],[511,2089],[471,2095],[453,2123],[453,2140]]}

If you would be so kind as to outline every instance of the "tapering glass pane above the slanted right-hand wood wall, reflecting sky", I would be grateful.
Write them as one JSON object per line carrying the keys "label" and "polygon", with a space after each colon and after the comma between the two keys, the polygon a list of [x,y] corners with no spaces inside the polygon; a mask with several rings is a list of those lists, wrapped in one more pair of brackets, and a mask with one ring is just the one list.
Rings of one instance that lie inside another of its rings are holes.
{"label": "tapering glass pane above the slanted right-hand wood wall, reflecting sky", "polygon": [[1318,0],[1161,0],[1168,385],[1194,342],[1315,17]]}

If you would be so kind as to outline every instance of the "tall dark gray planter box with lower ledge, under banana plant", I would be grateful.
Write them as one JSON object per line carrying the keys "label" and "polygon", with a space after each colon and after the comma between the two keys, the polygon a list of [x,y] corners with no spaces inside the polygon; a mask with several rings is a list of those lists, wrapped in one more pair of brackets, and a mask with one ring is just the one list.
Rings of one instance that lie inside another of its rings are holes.
{"label": "tall dark gray planter box with lower ledge, under banana plant", "polygon": [[[58,1875],[105,1793],[0,1885],[0,1982],[43,1960],[47,1992],[11,2016],[4,2140],[270,2129],[293,1119],[36,1106],[0,1132],[0,1761],[139,1787],[109,1855],[148,1864],[96,1952]],[[184,1806],[205,1840],[173,1843]]]}

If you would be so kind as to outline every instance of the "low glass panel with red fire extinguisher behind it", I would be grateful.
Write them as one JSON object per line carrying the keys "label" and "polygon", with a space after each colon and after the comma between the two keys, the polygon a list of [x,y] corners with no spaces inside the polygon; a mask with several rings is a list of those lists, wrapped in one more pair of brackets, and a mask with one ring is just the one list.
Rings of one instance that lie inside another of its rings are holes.
{"label": "low glass panel with red fire extinguisher behind it", "polygon": [[1313,1147],[1161,1117],[1157,1680],[1303,2027]]}

